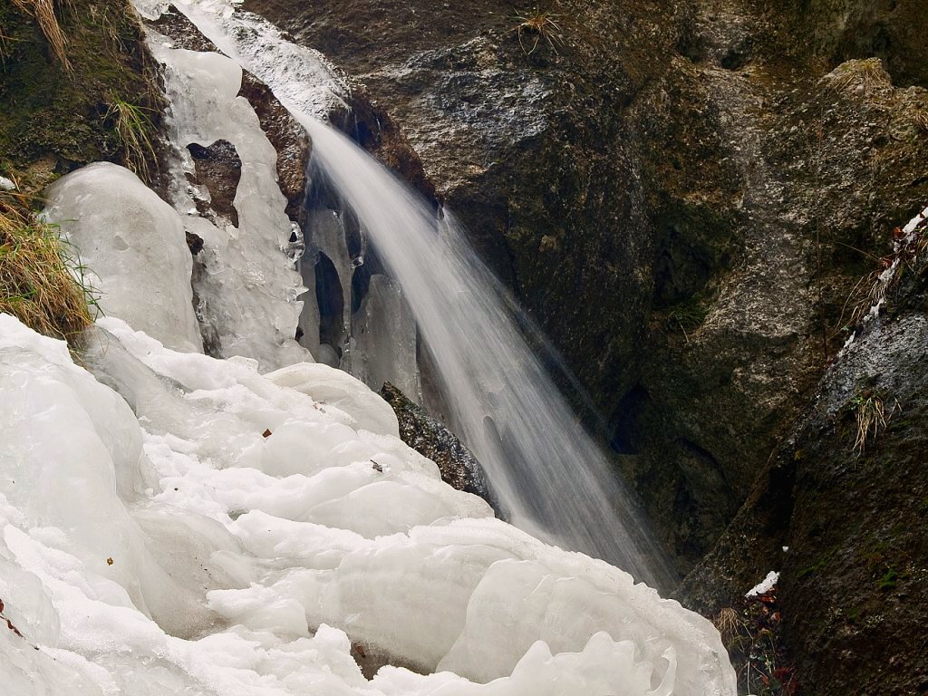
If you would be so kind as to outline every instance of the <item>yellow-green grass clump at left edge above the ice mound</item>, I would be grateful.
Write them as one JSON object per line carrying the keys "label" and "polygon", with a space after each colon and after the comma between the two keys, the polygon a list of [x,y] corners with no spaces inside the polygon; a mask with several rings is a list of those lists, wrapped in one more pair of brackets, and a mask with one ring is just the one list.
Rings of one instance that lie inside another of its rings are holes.
{"label": "yellow-green grass clump at left edge above the ice mound", "polygon": [[27,194],[0,193],[0,312],[58,339],[90,326],[97,309],[84,267],[58,226],[31,209]]}

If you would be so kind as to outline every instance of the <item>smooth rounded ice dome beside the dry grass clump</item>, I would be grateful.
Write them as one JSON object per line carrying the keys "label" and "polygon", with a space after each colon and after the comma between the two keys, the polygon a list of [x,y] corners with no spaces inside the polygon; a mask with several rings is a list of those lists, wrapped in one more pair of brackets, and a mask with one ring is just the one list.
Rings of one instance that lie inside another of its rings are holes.
{"label": "smooth rounded ice dome beside the dry grass clump", "polygon": [[109,162],[61,177],[45,198],[45,217],[79,252],[104,314],[176,350],[202,352],[190,251],[170,205],[128,169]]}

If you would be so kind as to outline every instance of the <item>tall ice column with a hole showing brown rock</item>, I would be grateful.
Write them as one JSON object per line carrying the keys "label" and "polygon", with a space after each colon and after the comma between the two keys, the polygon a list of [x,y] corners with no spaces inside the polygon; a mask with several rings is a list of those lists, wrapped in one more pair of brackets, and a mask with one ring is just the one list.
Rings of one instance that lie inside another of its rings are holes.
{"label": "tall ice column with a hole showing brown rock", "polygon": [[[311,359],[294,340],[303,307],[297,298],[305,289],[288,257],[292,227],[277,186],[277,152],[248,99],[238,97],[241,68],[217,53],[174,49],[157,38],[151,47],[165,67],[170,136],[182,159],[180,169],[174,167],[172,202],[187,230],[203,240],[200,320],[224,357],[252,357],[266,369]],[[208,191],[182,184],[193,168],[187,146],[219,139],[231,143],[242,162],[233,201],[238,226],[200,217],[193,197],[208,199]]]}

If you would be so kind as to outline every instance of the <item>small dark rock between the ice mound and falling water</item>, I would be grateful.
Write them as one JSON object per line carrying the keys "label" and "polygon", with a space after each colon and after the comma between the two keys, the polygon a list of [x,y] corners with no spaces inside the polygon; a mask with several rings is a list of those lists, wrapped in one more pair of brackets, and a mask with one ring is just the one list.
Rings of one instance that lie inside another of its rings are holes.
{"label": "small dark rock between the ice mound and falling water", "polygon": [[403,442],[423,457],[432,459],[442,472],[442,481],[459,491],[481,496],[496,508],[480,462],[453,432],[429,416],[421,406],[407,399],[390,382],[383,384],[380,396],[393,407]]}

